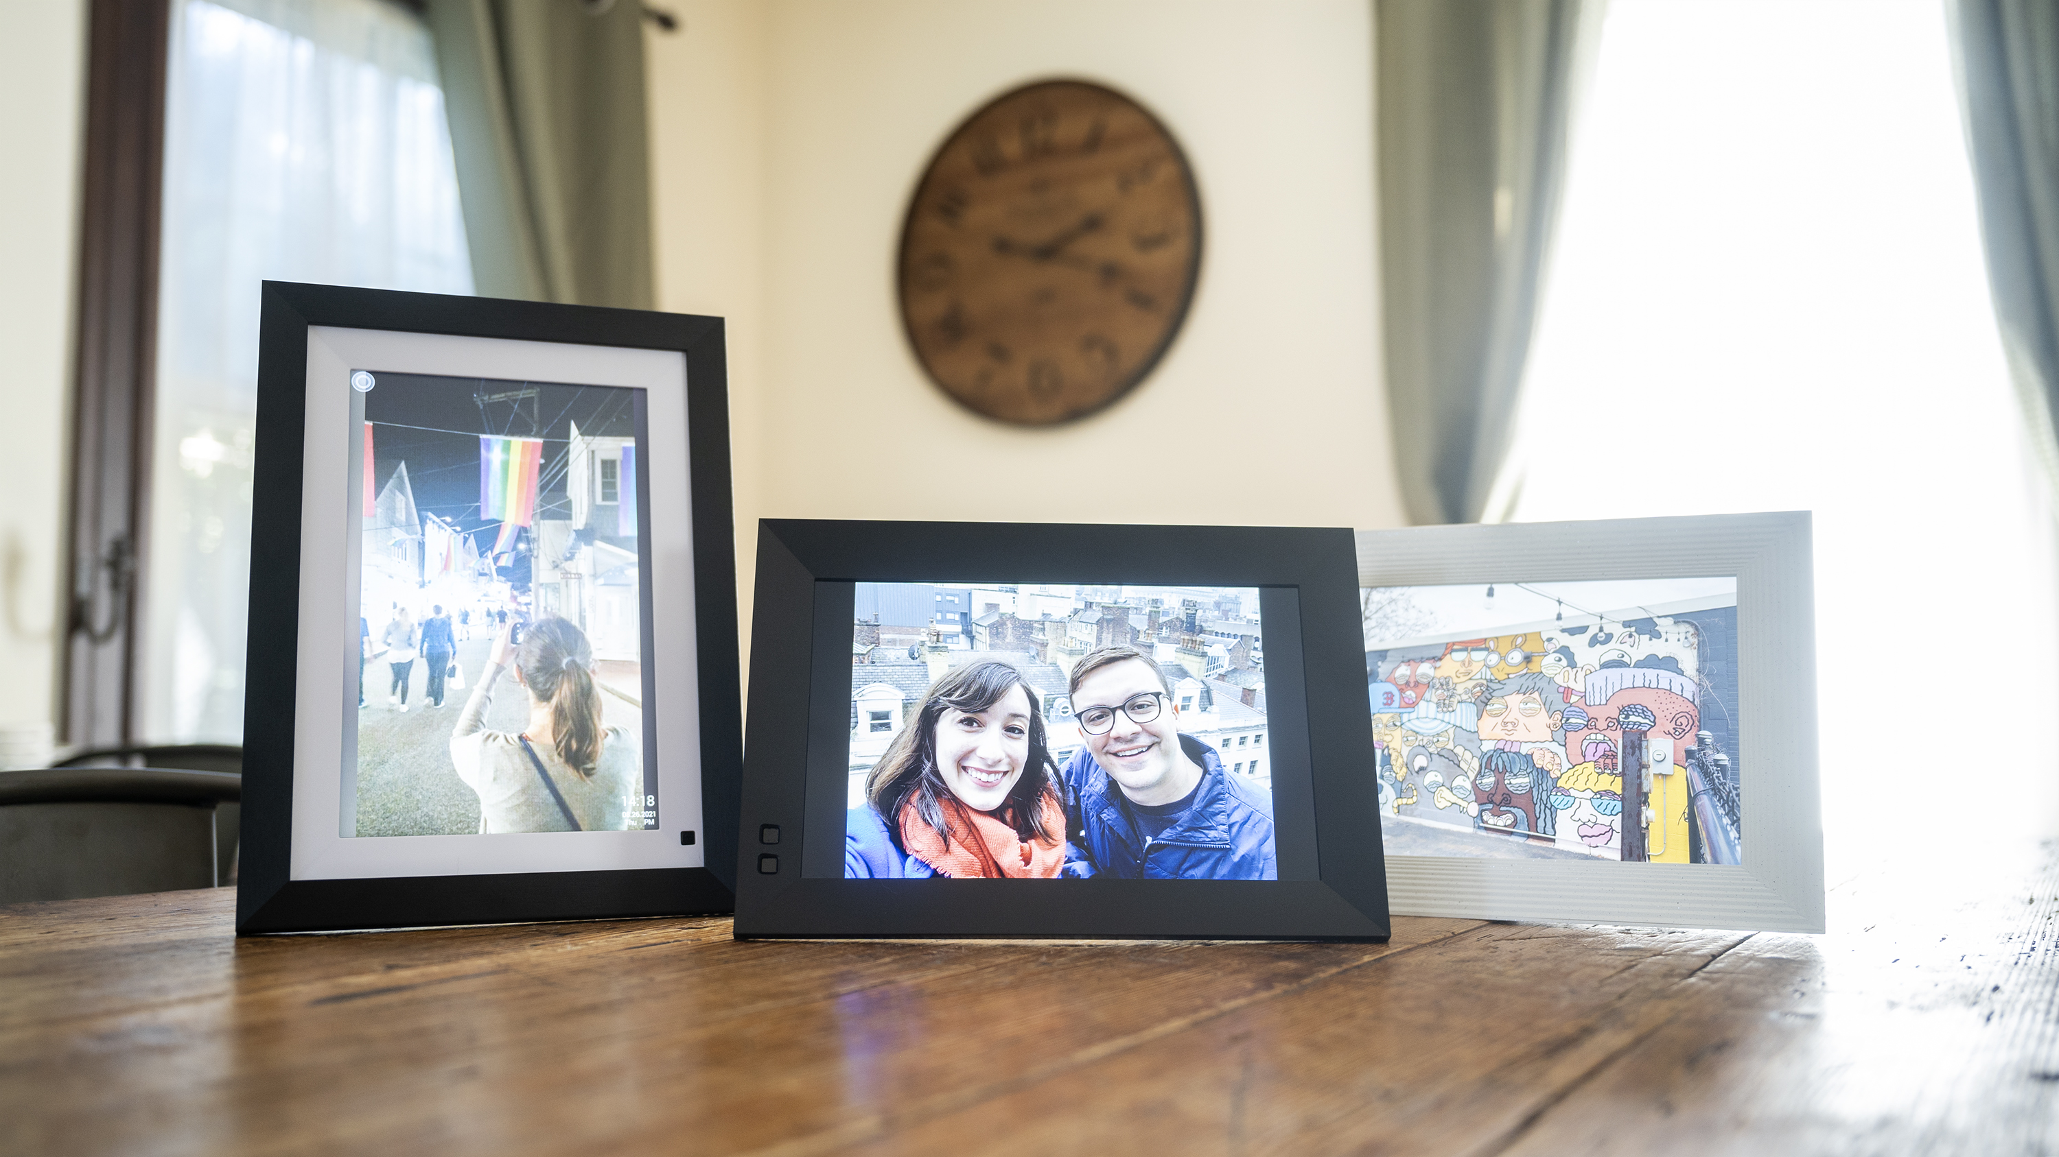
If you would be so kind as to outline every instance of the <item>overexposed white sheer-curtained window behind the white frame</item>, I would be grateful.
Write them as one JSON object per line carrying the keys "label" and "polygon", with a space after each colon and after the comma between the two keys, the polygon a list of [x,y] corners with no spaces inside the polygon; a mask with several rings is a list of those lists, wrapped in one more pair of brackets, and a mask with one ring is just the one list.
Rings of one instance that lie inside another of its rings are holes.
{"label": "overexposed white sheer-curtained window behind the white frame", "polygon": [[2053,511],[1935,0],[1614,0],[1520,521],[1816,513],[1830,881],[2059,811]]}

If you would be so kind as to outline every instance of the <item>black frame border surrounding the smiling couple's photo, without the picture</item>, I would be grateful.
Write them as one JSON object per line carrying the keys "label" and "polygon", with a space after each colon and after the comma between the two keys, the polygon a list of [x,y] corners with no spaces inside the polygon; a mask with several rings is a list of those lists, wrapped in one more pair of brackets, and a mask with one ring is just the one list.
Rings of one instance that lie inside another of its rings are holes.
{"label": "black frame border surrounding the smiling couple's photo, without the picture", "polygon": [[[1277,879],[844,879],[861,583],[1258,589]],[[758,525],[737,937],[1384,941],[1347,529]]]}

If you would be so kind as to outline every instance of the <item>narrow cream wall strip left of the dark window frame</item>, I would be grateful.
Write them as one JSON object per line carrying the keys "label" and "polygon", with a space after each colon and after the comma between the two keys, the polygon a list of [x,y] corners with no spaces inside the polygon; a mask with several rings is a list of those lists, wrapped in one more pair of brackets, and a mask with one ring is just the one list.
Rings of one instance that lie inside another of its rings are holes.
{"label": "narrow cream wall strip left of the dark window frame", "polygon": [[10,4],[0,35],[0,729],[56,712],[84,12]]}

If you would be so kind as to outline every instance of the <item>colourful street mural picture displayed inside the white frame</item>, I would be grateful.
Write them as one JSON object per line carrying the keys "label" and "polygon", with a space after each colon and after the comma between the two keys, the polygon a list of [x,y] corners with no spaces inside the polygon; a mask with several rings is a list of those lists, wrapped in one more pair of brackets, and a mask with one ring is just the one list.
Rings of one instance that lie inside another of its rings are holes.
{"label": "colourful street mural picture displayed inside the white frame", "polygon": [[1388,854],[1742,863],[1736,578],[1359,597]]}

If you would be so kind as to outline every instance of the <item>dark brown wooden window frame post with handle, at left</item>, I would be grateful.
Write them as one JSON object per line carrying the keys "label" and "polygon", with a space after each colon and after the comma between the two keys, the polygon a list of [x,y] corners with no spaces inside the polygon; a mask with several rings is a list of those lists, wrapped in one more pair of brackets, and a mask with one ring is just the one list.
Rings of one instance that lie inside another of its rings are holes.
{"label": "dark brown wooden window frame post with handle, at left", "polygon": [[78,229],[64,741],[140,733],[169,0],[93,0]]}

